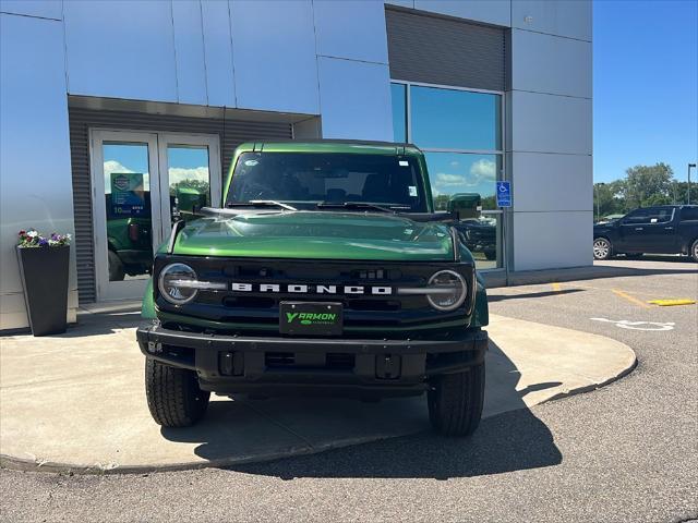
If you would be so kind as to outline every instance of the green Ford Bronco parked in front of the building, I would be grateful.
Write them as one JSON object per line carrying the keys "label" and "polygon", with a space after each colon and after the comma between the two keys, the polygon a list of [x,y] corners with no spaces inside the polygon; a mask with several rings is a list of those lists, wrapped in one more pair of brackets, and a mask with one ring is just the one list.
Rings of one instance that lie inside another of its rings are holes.
{"label": "green Ford Bronco parked in front of the building", "polygon": [[210,392],[426,392],[435,430],[471,434],[484,398],[488,299],[465,239],[478,195],[435,212],[412,145],[250,143],[224,207],[178,222],[137,330],[151,413],[196,423]]}

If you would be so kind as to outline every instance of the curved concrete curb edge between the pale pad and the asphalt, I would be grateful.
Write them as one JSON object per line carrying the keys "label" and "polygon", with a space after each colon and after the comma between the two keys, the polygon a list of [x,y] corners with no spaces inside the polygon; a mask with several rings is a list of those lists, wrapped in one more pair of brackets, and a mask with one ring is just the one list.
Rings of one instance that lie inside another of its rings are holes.
{"label": "curved concrete curb edge between the pale pad and the asphalt", "polygon": [[[627,346],[627,345],[626,345]],[[635,351],[628,346],[628,350],[633,353],[633,361],[630,364],[618,372],[615,376],[600,382],[600,384],[591,384],[582,387],[577,387],[575,389],[562,391],[552,398],[549,398],[542,401],[539,404],[549,403],[551,401],[561,400],[564,398],[569,398],[571,396],[582,394],[586,392],[592,392],[602,387],[606,387],[621,378],[624,378],[628,374],[630,374],[638,365],[637,355]],[[514,412],[514,411],[508,411]],[[496,417],[500,415],[506,414],[506,412],[495,414],[492,417]],[[413,433],[420,434],[421,431]],[[261,453],[255,455],[249,455],[243,458],[225,458],[219,460],[210,460],[205,462],[183,462],[183,463],[171,463],[165,465],[113,465],[109,464],[71,464],[71,463],[60,463],[60,462],[51,462],[51,461],[37,461],[31,460],[26,458],[16,458],[9,454],[0,454],[0,469],[8,469],[21,472],[47,472],[53,474],[77,474],[77,475],[115,475],[115,474],[151,474],[158,472],[179,472],[179,471],[192,471],[192,470],[202,470],[202,469],[225,469],[233,465],[241,464],[251,464],[251,463],[263,463],[268,461],[276,461],[287,458],[294,458],[301,455],[315,454],[320,452],[324,452],[327,450],[339,449],[345,447],[352,447],[356,445],[369,443],[373,441],[381,441],[385,439],[393,439],[398,437],[409,436],[409,434],[404,434],[399,436],[370,436],[370,437],[360,437],[353,438],[349,440],[339,440],[333,441],[330,443],[321,445],[317,447],[313,446],[301,446],[298,448],[291,448],[289,450],[284,450],[280,452],[269,452],[269,453]]]}

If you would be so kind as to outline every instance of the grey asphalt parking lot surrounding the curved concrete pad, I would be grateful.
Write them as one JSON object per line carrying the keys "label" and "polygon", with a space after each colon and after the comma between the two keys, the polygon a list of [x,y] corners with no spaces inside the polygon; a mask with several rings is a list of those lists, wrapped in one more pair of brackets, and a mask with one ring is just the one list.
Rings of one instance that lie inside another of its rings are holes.
{"label": "grey asphalt parking lot surrounding the curved concrete pad", "polygon": [[698,267],[615,260],[635,276],[493,289],[493,313],[617,339],[629,376],[432,434],[277,462],[127,476],[0,472],[4,521],[551,521],[698,518]]}

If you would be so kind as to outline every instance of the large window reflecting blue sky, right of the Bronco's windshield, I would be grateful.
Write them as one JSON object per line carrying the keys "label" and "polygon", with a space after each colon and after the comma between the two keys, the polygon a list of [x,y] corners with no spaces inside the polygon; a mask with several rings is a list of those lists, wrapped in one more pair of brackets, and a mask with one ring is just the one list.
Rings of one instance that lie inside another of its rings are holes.
{"label": "large window reflecting blue sky, right of the Bronco's windshield", "polygon": [[495,200],[502,179],[502,95],[395,82],[393,127],[397,142],[424,151],[436,210],[457,193],[478,193],[482,217],[458,224],[480,269],[504,264],[502,210]]}

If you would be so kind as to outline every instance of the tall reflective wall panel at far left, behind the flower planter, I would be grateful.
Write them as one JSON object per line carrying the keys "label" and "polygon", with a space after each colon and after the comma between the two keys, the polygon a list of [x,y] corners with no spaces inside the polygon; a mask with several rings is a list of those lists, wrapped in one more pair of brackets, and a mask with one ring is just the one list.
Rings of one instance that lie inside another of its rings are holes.
{"label": "tall reflective wall panel at far left, behind the flower planter", "polygon": [[[73,233],[63,31],[0,14],[0,329],[26,327],[15,253],[20,229]],[[72,316],[76,306],[71,253]]]}

